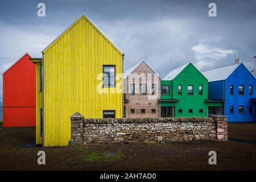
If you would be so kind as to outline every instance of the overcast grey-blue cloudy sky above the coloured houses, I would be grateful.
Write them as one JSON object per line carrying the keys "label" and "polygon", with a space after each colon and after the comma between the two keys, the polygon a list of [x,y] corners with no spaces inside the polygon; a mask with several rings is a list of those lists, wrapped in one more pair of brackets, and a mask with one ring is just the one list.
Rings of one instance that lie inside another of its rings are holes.
{"label": "overcast grey-blue cloudy sky above the coloured houses", "polygon": [[[46,17],[37,16],[38,3]],[[208,5],[217,5],[209,17]],[[146,60],[161,77],[192,61],[201,71],[240,58],[253,68],[256,1],[0,1],[0,73],[41,51],[86,14],[125,53],[124,71]],[[1,74],[2,75],[2,74]],[[2,100],[2,76],[0,79]]]}

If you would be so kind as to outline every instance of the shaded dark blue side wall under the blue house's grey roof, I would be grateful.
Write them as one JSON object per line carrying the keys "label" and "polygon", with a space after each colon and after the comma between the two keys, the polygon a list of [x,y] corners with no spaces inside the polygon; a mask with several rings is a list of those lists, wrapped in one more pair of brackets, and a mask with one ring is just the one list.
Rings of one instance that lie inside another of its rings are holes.
{"label": "shaded dark blue side wall under the blue house's grey roof", "polygon": [[209,82],[209,99],[224,100],[224,81]]}

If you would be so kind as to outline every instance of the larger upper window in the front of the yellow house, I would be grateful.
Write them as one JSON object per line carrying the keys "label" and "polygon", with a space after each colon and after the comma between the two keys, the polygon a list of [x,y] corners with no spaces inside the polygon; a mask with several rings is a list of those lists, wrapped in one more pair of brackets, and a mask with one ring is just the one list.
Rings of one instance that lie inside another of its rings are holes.
{"label": "larger upper window in the front of the yellow house", "polygon": [[115,87],[115,66],[104,65],[103,66],[103,86]]}

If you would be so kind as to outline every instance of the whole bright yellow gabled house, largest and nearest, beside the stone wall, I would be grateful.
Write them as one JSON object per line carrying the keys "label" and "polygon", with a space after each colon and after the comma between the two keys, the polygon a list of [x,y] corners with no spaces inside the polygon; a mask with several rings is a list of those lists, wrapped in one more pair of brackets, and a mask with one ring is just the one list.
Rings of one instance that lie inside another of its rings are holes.
{"label": "whole bright yellow gabled house, largest and nearest, beside the stone wall", "polygon": [[36,64],[36,144],[66,146],[70,116],[123,117],[124,54],[82,15]]}

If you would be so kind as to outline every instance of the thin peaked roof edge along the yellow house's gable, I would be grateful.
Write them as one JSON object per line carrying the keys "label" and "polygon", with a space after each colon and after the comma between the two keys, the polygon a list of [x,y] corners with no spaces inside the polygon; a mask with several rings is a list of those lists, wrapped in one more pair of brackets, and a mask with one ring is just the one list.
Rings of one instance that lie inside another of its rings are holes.
{"label": "thin peaked roof edge along the yellow house's gable", "polygon": [[48,51],[48,49],[50,49],[56,42],[58,42],[58,40],[60,38],[62,38],[62,36],[64,36],[64,34],[66,34],[66,32],[68,32],[72,27],[75,26],[76,23],[78,23],[81,19],[85,18],[95,29],[96,31],[98,31],[106,40],[109,44],[111,44],[117,52],[120,53],[120,55],[124,55],[124,53],[121,51],[120,48],[118,48],[108,37],[107,35],[104,34],[103,31],[100,30],[99,27],[96,26],[96,24],[94,22],[92,22],[92,20],[90,20],[85,14],[82,14],[74,23],[71,24],[71,26],[69,26],[68,28],[66,28],[59,36],[57,36],[50,44],[48,44],[48,46],[46,48],[43,49],[42,53],[45,53]]}

